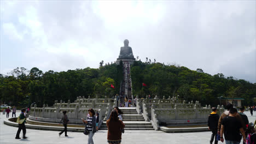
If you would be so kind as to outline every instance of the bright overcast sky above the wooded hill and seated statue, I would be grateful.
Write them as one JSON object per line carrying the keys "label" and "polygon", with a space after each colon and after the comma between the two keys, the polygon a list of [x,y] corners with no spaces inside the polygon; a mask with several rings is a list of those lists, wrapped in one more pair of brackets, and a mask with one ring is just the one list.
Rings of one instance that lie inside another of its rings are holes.
{"label": "bright overcast sky above the wooded hill and seated statue", "polygon": [[0,73],[133,55],[256,82],[256,1],[0,1]]}

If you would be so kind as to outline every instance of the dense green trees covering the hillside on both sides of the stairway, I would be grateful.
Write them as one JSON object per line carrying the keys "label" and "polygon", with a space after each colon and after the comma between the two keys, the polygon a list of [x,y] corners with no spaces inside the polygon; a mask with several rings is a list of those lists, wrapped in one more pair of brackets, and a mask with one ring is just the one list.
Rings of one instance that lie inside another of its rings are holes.
{"label": "dense green trees covering the hillside on both sides of the stairway", "polygon": [[[27,106],[36,103],[53,105],[54,100],[74,101],[78,96],[113,97],[119,93],[122,65],[100,62],[100,68],[75,69],[43,73],[38,68],[16,68],[11,76],[0,74],[0,103]],[[185,100],[199,100],[202,104],[215,104],[221,95],[244,98],[244,105],[252,105],[256,83],[236,80],[223,74],[210,75],[202,69],[196,71],[175,65],[136,61],[131,66],[132,93],[143,98],[150,94],[162,97],[179,95]],[[142,86],[146,83],[147,86]],[[114,85],[115,88],[111,88]]]}

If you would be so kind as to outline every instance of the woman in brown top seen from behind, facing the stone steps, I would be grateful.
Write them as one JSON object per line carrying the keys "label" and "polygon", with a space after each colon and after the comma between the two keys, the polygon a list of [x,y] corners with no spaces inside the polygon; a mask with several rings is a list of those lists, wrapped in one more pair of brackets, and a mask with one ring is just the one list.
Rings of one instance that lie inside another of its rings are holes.
{"label": "woman in brown top seen from behind, facing the stone steps", "polygon": [[112,111],[110,118],[107,120],[109,144],[121,144],[121,129],[124,129],[125,124],[118,118],[117,111]]}

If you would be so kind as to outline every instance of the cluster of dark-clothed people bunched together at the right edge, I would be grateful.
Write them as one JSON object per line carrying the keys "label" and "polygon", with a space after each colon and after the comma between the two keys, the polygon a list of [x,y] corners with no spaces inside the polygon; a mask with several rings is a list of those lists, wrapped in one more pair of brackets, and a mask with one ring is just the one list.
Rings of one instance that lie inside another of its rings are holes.
{"label": "cluster of dark-clothed people bunched together at the right edge", "polygon": [[[241,140],[244,144],[255,144],[256,120],[254,124],[249,123],[248,117],[243,113],[245,111],[244,106],[239,108],[239,112],[232,104],[228,104],[226,108],[227,110],[219,117],[217,108],[212,107],[212,113],[208,117],[208,129],[212,131],[210,143],[212,144],[213,141],[214,144],[217,144],[218,141],[224,142],[225,138],[226,144],[239,144]],[[251,108],[253,107],[250,107],[250,110]],[[253,115],[252,112],[251,115]]]}

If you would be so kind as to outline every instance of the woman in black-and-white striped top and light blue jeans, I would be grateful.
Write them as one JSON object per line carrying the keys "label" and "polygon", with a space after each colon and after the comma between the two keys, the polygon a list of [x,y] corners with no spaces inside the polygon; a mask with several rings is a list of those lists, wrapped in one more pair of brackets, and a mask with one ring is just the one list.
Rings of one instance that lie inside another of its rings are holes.
{"label": "woman in black-and-white striped top and light blue jeans", "polygon": [[92,137],[94,136],[94,133],[96,133],[96,117],[95,117],[95,111],[94,109],[89,109],[89,117],[86,119],[86,121],[84,119],[83,122],[86,123],[86,129],[89,131],[88,134],[88,144],[94,144],[94,140],[92,139]]}

